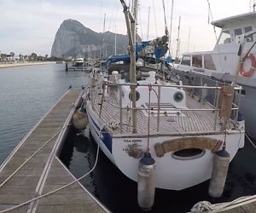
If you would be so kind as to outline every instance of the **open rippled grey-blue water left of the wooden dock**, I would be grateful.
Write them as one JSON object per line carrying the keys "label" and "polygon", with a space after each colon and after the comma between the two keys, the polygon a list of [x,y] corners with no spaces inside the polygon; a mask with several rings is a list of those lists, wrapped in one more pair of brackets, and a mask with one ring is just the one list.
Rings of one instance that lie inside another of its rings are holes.
{"label": "open rippled grey-blue water left of the wooden dock", "polygon": [[0,69],[0,163],[68,87],[80,88],[87,76],[65,72],[64,64]]}

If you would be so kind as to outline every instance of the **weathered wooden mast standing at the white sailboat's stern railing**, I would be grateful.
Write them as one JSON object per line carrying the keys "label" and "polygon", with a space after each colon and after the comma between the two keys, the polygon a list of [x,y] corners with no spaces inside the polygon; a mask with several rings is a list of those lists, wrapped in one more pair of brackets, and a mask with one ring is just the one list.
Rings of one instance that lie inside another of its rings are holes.
{"label": "weathered wooden mast standing at the white sailboat's stern railing", "polygon": [[136,80],[136,21],[137,21],[137,0],[133,1],[133,9],[131,12],[127,7],[125,0],[120,0],[122,6],[124,8],[125,13],[125,22],[127,26],[127,34],[129,39],[129,48],[131,55],[131,64],[130,64],[130,90],[131,90],[131,102],[132,102],[132,132],[137,133],[137,106],[136,106],[136,88],[137,88],[137,80]]}

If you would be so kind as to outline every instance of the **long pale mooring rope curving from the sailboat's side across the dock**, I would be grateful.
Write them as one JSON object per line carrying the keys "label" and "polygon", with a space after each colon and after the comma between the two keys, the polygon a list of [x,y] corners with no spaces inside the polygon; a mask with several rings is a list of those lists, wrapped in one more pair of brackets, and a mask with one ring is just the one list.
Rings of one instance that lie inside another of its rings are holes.
{"label": "long pale mooring rope curving from the sailboat's side across the dock", "polygon": [[[105,124],[102,125],[102,129],[103,129],[104,125],[105,125]],[[102,130],[100,130],[99,140],[101,140],[101,132],[102,132]],[[94,166],[92,167],[92,169],[91,169],[90,171],[88,171],[87,173],[84,174],[84,176],[81,176],[81,177],[79,177],[79,179],[76,179],[76,180],[74,180],[74,181],[68,183],[67,185],[64,185],[63,187],[59,187],[59,188],[57,188],[57,189],[55,189],[55,190],[53,190],[53,191],[51,191],[51,192],[49,192],[49,193],[44,193],[44,194],[42,194],[42,195],[40,195],[40,196],[38,196],[38,197],[36,197],[36,198],[34,198],[34,199],[30,199],[30,200],[28,200],[28,201],[26,201],[26,202],[24,202],[24,203],[22,203],[22,204],[15,205],[14,207],[11,207],[11,208],[9,208],[9,209],[1,210],[0,213],[8,212],[9,210],[15,210],[15,209],[17,209],[17,208],[19,208],[19,207],[21,207],[21,206],[23,206],[23,205],[26,205],[26,204],[31,203],[32,201],[35,201],[35,200],[38,200],[38,199],[42,199],[42,198],[44,198],[44,197],[46,197],[46,196],[48,196],[48,195],[50,195],[50,194],[52,194],[52,193],[56,193],[56,192],[60,191],[60,190],[63,189],[63,188],[69,187],[69,186],[73,185],[74,183],[76,183],[76,182],[80,181],[81,179],[83,179],[85,176],[88,176],[88,175],[89,175],[93,170],[95,170],[95,168],[96,168],[96,164],[97,164],[98,157],[99,157],[99,149],[100,149],[100,141],[98,142],[98,146],[97,146],[95,164],[94,164]]]}

